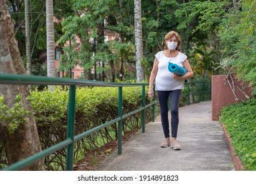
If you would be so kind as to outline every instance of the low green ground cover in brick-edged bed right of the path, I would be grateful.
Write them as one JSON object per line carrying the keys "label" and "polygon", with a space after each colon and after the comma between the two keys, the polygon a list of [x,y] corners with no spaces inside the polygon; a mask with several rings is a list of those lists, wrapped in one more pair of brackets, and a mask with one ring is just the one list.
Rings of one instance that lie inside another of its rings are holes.
{"label": "low green ground cover in brick-edged bed right of the path", "polygon": [[222,108],[220,122],[228,131],[245,169],[256,170],[256,100]]}

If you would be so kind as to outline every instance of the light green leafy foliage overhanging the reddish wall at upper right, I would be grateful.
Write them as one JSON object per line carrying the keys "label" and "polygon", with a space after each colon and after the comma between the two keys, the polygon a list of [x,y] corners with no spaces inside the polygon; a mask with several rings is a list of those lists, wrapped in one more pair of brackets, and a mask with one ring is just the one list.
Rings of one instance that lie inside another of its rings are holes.
{"label": "light green leafy foliage overhanging the reddish wall at upper right", "polygon": [[[249,81],[256,94],[256,1],[242,1],[240,11],[226,14],[220,26],[223,58],[232,61],[240,80]],[[229,70],[229,68],[228,68]]]}

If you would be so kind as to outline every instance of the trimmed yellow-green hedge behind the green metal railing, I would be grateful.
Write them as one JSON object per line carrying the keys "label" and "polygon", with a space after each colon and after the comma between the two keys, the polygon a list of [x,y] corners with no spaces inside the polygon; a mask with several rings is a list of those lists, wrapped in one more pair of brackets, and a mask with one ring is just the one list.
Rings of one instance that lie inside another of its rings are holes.
{"label": "trimmed yellow-green hedge behind the green metal railing", "polygon": [[[43,149],[66,139],[68,112],[67,87],[55,87],[54,91],[33,91],[32,106]],[[123,87],[123,114],[141,106],[141,87]],[[149,103],[146,97],[146,104]],[[105,124],[118,117],[118,87],[78,87],[76,89],[75,135]],[[151,108],[147,110],[147,122],[151,121]],[[141,126],[141,112],[122,120],[123,134]],[[74,160],[80,160],[89,150],[101,147],[118,136],[117,123],[101,129],[78,141],[74,147]],[[47,170],[64,170],[66,150],[60,150],[45,158]]]}

